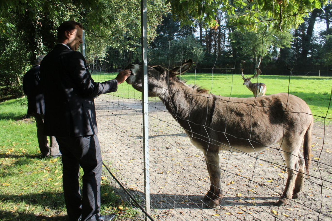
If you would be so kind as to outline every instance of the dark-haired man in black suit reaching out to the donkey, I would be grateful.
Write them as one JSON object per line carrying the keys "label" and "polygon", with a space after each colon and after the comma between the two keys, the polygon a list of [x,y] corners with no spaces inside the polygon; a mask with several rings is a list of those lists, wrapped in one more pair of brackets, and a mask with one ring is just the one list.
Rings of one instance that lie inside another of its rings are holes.
{"label": "dark-haired man in black suit reaching out to the donkey", "polygon": [[[83,55],[80,23],[67,21],[57,30],[58,44],[41,62],[45,96],[45,133],[55,136],[62,153],[63,193],[70,221],[108,221],[115,214],[100,215],[102,157],[97,138],[94,98],[114,92],[130,71],[103,83],[91,78]],[[84,175],[82,196],[79,167]]]}

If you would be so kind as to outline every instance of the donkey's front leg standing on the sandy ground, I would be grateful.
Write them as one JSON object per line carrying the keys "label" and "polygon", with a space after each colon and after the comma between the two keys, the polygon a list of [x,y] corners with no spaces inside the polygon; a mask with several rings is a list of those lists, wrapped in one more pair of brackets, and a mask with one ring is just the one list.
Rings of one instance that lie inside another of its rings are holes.
{"label": "donkey's front leg standing on the sandy ground", "polygon": [[207,152],[205,161],[207,163],[207,171],[210,176],[210,190],[205,195],[204,199],[211,200],[208,207],[214,208],[219,205],[221,197],[221,184],[220,184],[220,168],[219,168],[219,155],[217,152]]}

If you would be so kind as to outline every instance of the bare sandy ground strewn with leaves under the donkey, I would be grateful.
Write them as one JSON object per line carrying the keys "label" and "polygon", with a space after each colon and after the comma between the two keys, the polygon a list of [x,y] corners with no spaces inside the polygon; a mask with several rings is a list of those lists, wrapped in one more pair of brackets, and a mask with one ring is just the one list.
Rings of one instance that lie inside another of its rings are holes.
{"label": "bare sandy ground strewn with leaves under the donkey", "polygon": [[[95,102],[104,162],[143,205],[141,101],[102,95]],[[154,220],[332,220],[331,126],[314,125],[313,161],[298,199],[273,206],[287,179],[283,155],[275,145],[251,156],[220,152],[223,197],[219,207],[209,209],[202,201],[209,189],[203,153],[158,99],[149,103],[148,114],[150,214]]]}

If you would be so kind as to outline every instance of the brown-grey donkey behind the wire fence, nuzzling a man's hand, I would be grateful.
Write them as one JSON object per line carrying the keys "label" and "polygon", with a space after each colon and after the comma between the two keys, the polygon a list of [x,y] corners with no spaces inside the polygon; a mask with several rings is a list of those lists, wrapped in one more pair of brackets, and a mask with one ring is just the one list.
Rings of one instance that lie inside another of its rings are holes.
{"label": "brown-grey donkey behind the wire fence, nuzzling a man's hand", "polygon": [[[148,96],[159,97],[191,142],[203,151],[211,183],[203,198],[209,200],[208,207],[220,203],[220,150],[257,152],[277,142],[284,151],[288,178],[275,205],[297,198],[303,188],[304,165],[308,173],[310,162],[313,118],[308,105],[287,93],[251,98],[216,96],[177,78],[191,65],[192,60],[172,70],[148,66]],[[131,70],[126,82],[142,91],[141,66],[130,64],[126,69]],[[304,156],[300,152],[303,138]]]}

